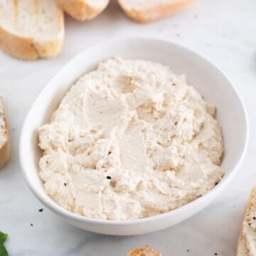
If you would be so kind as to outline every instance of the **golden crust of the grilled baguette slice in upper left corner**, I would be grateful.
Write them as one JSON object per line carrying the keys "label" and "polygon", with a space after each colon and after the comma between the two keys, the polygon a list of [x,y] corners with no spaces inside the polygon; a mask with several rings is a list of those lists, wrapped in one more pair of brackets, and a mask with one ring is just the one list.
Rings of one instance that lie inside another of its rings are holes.
{"label": "golden crust of the grilled baguette slice in upper left corner", "polygon": [[[63,11],[59,10],[58,23],[60,31],[64,30]],[[36,42],[33,38],[24,38],[6,31],[0,26],[0,48],[9,55],[22,60],[52,58],[60,53],[63,46],[63,35],[52,41]]]}

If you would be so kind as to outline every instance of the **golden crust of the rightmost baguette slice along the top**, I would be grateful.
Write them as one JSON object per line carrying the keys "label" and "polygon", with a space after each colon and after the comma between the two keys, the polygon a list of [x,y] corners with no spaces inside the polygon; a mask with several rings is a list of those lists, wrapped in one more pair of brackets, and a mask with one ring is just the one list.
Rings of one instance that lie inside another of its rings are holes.
{"label": "golden crust of the rightmost baguette slice along the top", "polygon": [[171,14],[180,11],[194,0],[177,0],[173,3],[159,4],[157,6],[152,6],[148,9],[143,9],[139,11],[134,9],[126,9],[123,0],[118,1],[125,14],[127,14],[129,18],[132,18],[134,21],[137,21],[139,23],[147,23],[170,16]]}

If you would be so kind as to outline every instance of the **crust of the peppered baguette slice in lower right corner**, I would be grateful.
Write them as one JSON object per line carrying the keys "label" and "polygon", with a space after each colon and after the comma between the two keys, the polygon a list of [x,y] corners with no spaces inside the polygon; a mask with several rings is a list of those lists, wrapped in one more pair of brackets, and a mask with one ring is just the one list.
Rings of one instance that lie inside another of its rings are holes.
{"label": "crust of the peppered baguette slice in lower right corner", "polygon": [[[254,188],[252,188],[252,191],[250,193],[250,196],[248,198],[246,207],[245,207],[245,215],[244,215],[244,219],[245,220],[246,216],[250,214],[251,210],[252,210],[252,199],[256,197],[256,186]],[[247,250],[246,247],[246,238],[244,237],[244,235],[242,234],[242,228],[240,229],[240,235],[239,235],[239,239],[238,239],[238,247],[237,247],[237,256],[247,256],[249,255],[249,251]]]}

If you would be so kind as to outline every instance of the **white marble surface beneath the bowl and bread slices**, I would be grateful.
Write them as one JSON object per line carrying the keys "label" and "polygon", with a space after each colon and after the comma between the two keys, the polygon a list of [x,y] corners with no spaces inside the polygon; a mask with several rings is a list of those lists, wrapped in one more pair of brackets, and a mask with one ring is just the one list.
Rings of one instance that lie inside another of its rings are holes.
{"label": "white marble surface beneath the bowl and bread slices", "polygon": [[[9,254],[117,256],[149,245],[163,255],[235,255],[245,201],[256,183],[255,13],[255,0],[198,0],[181,14],[140,25],[129,21],[112,2],[94,21],[66,19],[65,45],[58,58],[23,62],[0,52],[0,91],[5,95],[11,132],[11,159],[0,171],[0,230],[9,233]],[[251,128],[245,161],[222,196],[183,223],[137,237],[97,235],[63,223],[28,190],[18,162],[23,119],[46,82],[87,46],[119,36],[168,39],[210,59],[240,92]],[[38,212],[40,208],[42,213]]]}

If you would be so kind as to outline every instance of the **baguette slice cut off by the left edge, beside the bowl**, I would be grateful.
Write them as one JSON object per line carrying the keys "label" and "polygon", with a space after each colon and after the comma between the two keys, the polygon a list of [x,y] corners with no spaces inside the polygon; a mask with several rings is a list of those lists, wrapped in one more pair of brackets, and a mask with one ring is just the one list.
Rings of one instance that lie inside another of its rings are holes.
{"label": "baguette slice cut off by the left edge, beside the bowl", "polygon": [[9,132],[4,114],[4,105],[0,95],[0,169],[6,164],[10,156]]}

